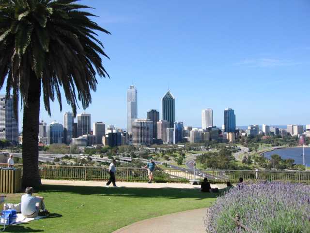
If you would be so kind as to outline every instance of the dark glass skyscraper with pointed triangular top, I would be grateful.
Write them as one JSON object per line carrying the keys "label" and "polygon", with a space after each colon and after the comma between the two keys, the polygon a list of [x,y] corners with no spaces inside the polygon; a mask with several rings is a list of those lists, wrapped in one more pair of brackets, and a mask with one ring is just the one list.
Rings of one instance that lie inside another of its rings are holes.
{"label": "dark glass skyscraper with pointed triangular top", "polygon": [[175,99],[171,92],[168,91],[161,101],[163,114],[162,118],[163,120],[169,121],[170,128],[173,128],[173,122],[175,121]]}

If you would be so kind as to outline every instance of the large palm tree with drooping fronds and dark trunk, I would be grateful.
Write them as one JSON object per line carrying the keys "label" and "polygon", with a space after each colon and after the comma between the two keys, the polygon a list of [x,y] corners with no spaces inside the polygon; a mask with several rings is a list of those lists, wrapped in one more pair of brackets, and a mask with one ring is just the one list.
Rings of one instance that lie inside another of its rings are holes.
{"label": "large palm tree with drooping fronds and dark trunk", "polygon": [[85,109],[96,90],[96,74],[106,77],[101,55],[103,44],[95,30],[108,33],[93,22],[92,14],[77,0],[0,0],[0,88],[6,80],[17,113],[23,104],[23,186],[41,184],[38,170],[40,97],[51,115],[49,101],[62,94],[74,116],[78,101]]}

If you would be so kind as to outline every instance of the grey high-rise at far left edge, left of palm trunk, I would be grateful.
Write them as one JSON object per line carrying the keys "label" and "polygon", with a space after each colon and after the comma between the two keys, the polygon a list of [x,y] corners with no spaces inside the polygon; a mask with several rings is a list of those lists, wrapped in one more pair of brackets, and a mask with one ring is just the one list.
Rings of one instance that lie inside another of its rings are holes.
{"label": "grey high-rise at far left edge, left of palm trunk", "polygon": [[0,95],[0,139],[9,140],[14,145],[18,144],[17,111],[16,114],[15,116],[13,97],[6,100],[5,95]]}

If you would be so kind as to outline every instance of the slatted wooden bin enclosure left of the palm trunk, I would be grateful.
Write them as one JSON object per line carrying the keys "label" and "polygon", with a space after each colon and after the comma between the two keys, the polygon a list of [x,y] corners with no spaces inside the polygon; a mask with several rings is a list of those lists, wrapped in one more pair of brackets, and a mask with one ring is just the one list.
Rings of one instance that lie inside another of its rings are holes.
{"label": "slatted wooden bin enclosure left of the palm trunk", "polygon": [[17,193],[21,190],[21,169],[0,170],[0,193]]}

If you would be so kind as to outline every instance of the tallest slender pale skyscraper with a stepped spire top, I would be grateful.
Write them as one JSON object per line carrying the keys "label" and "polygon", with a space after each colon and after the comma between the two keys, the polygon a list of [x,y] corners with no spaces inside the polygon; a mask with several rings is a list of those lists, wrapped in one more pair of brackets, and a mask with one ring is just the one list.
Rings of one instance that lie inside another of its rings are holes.
{"label": "tallest slender pale skyscraper with a stepped spire top", "polygon": [[138,118],[137,89],[131,85],[127,90],[127,132],[132,133],[132,122]]}

